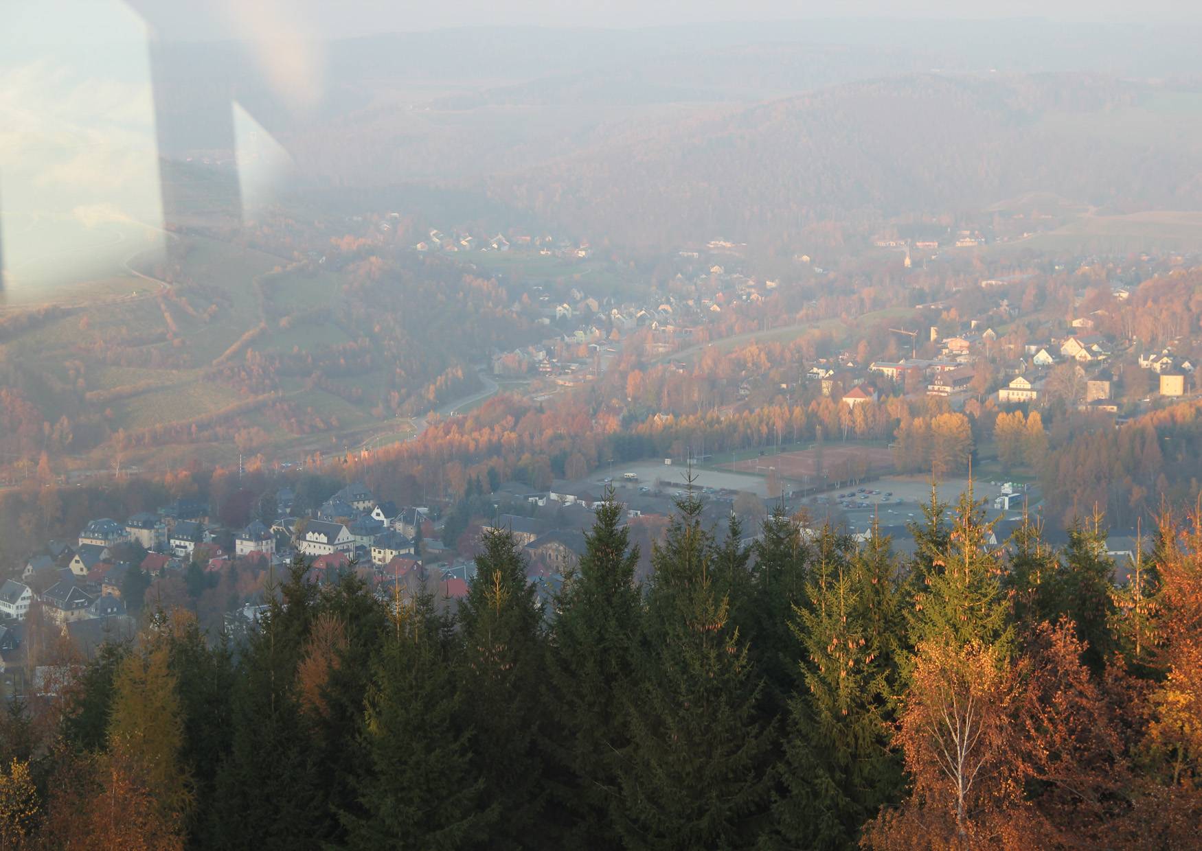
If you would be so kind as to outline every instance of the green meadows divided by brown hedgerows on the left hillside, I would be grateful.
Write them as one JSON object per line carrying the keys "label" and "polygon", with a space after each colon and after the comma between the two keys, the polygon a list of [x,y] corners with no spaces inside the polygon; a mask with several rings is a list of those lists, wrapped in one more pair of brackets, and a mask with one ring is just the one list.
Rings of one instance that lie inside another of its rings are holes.
{"label": "green meadows divided by brown hedgerows on the left hillside", "polygon": [[[174,340],[168,340],[169,326],[160,306],[160,286],[129,271],[114,276],[111,268],[129,260],[132,269],[153,277],[160,274],[156,254],[145,250],[145,240],[135,242],[127,236],[117,240],[115,232],[100,235],[120,247],[115,251],[109,246],[113,256],[106,260],[109,265],[102,270],[105,277],[55,289],[55,298],[8,299],[2,306],[4,310],[23,311],[56,301],[78,308],[35,325],[8,338],[4,346],[7,358],[43,378],[34,385],[34,401],[43,408],[49,421],[55,421],[61,413],[69,413],[71,419],[81,415],[67,407],[70,397],[77,392],[118,391],[114,397],[100,397],[89,413],[106,412],[106,422],[112,430],[124,429],[127,432],[160,422],[186,422],[242,400],[243,396],[233,388],[206,380],[203,374],[215,358],[260,323],[255,277],[284,266],[286,260],[218,240],[186,236],[186,251],[177,254],[178,266],[173,272],[174,280],[180,282],[177,292],[188,299],[195,313],[204,313],[214,302],[215,299],[206,294],[209,287],[225,290],[228,300],[216,299],[222,306],[221,312],[212,322],[204,322],[174,300],[165,299],[175,324]],[[190,288],[189,284],[196,287]],[[308,274],[290,270],[270,276],[270,287],[278,311],[296,314],[321,311],[331,305],[339,292],[339,281],[332,271]],[[256,337],[251,347],[261,352],[290,353],[347,340],[346,332],[332,322],[298,317],[288,328],[280,328],[278,320],[273,320],[268,331]],[[109,364],[94,356],[94,346],[103,343],[107,348],[115,342],[124,343],[124,356],[136,365],[125,366],[118,359]],[[189,365],[182,366],[182,358],[186,358]],[[163,366],[149,365],[155,361]],[[77,384],[81,376],[82,386]],[[296,404],[302,414],[311,410],[320,416],[327,427],[325,433],[291,435],[263,410],[251,410],[243,415],[243,420],[269,436],[269,445],[256,449],[273,457],[313,449],[329,451],[332,447],[344,444],[359,445],[377,433],[383,435],[380,441],[404,439],[412,433],[412,424],[381,424],[370,414],[371,407],[380,401],[382,379],[382,373],[358,379],[363,390],[359,404],[322,390],[307,389],[300,379],[285,382],[286,401]],[[129,395],[124,395],[123,389],[129,389]],[[190,442],[186,445],[131,450],[126,463],[144,469],[163,469],[165,466],[194,459],[204,463],[228,463],[230,453],[228,445]],[[100,448],[87,457],[75,459],[72,463],[85,468],[106,467],[109,455],[109,449]]]}

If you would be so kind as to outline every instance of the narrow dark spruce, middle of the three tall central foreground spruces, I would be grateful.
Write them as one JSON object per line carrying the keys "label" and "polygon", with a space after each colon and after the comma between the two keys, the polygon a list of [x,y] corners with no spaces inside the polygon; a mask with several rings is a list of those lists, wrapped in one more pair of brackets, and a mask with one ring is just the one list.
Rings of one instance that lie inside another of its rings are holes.
{"label": "narrow dark spruce, middle of the three tall central foreground spruces", "polygon": [[624,508],[606,492],[584,555],[557,605],[548,654],[555,762],[566,778],[558,797],[572,827],[572,845],[614,846],[618,802],[615,755],[626,745],[623,694],[633,677],[639,628],[635,586],[638,550],[630,546]]}

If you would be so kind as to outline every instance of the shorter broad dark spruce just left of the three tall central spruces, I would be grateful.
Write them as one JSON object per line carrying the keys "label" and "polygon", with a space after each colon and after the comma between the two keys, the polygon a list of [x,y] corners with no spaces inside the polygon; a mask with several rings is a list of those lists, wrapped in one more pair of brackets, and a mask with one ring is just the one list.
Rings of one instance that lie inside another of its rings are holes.
{"label": "shorter broad dark spruce just left of the three tall central spruces", "polygon": [[433,597],[398,598],[370,665],[361,737],[365,765],[343,811],[346,847],[454,851],[487,838],[496,805],[481,801],[471,737],[457,724],[451,624]]}

